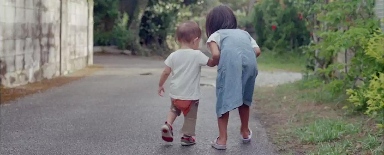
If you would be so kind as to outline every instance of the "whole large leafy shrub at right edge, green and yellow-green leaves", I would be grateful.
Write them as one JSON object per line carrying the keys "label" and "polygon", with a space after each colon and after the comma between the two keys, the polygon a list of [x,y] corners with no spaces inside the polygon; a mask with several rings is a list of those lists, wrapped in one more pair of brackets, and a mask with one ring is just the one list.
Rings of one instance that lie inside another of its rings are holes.
{"label": "whole large leafy shrub at right edge, green and yellow-green leaves", "polygon": [[312,10],[317,10],[312,20],[319,24],[311,29],[318,42],[304,49],[318,64],[316,80],[335,96],[346,91],[353,104],[344,108],[376,115],[384,108],[384,35],[374,16],[374,1],[317,2]]}

